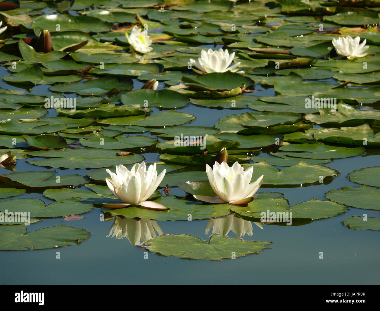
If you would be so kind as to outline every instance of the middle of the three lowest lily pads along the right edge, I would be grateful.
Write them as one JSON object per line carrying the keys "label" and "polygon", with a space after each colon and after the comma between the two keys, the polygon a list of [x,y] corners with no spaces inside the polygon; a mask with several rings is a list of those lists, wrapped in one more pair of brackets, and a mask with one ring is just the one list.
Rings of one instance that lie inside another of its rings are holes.
{"label": "middle of the three lowest lily pads along the right edge", "polygon": [[380,210],[380,189],[369,186],[343,187],[336,190],[331,189],[326,197],[334,202],[363,208],[366,210]]}

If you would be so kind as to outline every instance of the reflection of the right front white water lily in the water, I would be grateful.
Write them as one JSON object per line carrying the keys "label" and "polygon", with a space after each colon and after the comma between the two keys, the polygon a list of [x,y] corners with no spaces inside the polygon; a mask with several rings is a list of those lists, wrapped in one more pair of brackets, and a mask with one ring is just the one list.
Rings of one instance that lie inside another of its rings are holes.
{"label": "reflection of the right front white water lily in the water", "polygon": [[[254,223],[259,228],[263,229],[261,223]],[[252,224],[248,220],[238,218],[235,215],[228,215],[227,217],[211,219],[207,222],[206,235],[212,229],[212,234],[220,234],[227,236],[232,230],[239,238],[244,237],[245,234],[252,236]]]}

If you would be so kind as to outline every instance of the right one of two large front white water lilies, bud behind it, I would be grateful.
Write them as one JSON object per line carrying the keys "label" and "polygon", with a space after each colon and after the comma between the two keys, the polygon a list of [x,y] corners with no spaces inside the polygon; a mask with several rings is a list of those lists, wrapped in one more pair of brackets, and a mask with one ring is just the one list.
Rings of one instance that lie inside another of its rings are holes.
{"label": "right one of two large front white water lilies, bud behind it", "polygon": [[232,167],[227,163],[219,164],[215,162],[211,167],[206,164],[206,173],[209,178],[211,188],[218,197],[194,195],[195,199],[208,203],[230,203],[245,205],[253,200],[253,195],[263,183],[264,175],[261,175],[255,182],[250,183],[253,166],[244,171],[243,167],[235,162]]}

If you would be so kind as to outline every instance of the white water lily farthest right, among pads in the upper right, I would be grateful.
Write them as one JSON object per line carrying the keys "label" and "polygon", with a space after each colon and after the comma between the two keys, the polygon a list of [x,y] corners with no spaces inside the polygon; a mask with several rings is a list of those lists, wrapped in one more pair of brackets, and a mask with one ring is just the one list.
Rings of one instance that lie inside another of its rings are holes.
{"label": "white water lily farthest right, among pads in the upper right", "polygon": [[332,45],[335,47],[337,54],[346,56],[349,60],[364,57],[368,54],[368,52],[366,52],[369,48],[369,46],[366,46],[367,40],[364,39],[361,44],[359,44],[359,42],[359,36],[355,39],[352,39],[350,36],[347,36],[347,38],[339,37],[338,39],[332,39]]}

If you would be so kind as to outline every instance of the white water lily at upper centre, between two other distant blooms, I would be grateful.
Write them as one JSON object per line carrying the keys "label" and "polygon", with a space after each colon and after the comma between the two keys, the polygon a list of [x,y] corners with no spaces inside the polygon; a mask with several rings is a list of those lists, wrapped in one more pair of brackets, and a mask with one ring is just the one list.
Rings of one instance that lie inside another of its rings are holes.
{"label": "white water lily at upper centre, between two other distant blooms", "polygon": [[240,65],[239,62],[228,68],[234,57],[235,52],[228,54],[227,49],[225,51],[223,51],[223,49],[219,49],[218,51],[208,49],[207,52],[206,50],[202,50],[201,57],[198,58],[198,62],[192,58],[190,58],[190,62],[193,66],[199,69],[196,70],[193,68],[193,70],[199,74],[224,73],[226,71],[231,71],[234,73],[238,70],[237,67]]}

